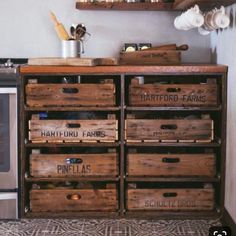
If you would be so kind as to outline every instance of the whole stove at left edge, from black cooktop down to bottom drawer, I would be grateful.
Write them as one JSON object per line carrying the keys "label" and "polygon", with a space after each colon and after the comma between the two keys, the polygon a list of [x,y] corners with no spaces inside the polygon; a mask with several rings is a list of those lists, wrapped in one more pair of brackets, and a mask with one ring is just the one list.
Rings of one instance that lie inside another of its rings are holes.
{"label": "whole stove at left edge, from black cooktop down to bottom drawer", "polygon": [[17,77],[25,59],[0,59],[0,219],[18,218]]}

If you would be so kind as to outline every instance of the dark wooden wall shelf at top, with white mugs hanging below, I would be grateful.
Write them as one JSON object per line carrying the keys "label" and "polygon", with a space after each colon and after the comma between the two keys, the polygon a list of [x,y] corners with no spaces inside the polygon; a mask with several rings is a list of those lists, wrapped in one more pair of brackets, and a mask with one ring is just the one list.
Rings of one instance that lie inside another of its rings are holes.
{"label": "dark wooden wall shelf at top, with white mugs hanging below", "polygon": [[119,11],[183,11],[195,4],[201,10],[210,10],[215,7],[229,6],[236,0],[175,0],[175,2],[76,2],[79,10],[119,10]]}

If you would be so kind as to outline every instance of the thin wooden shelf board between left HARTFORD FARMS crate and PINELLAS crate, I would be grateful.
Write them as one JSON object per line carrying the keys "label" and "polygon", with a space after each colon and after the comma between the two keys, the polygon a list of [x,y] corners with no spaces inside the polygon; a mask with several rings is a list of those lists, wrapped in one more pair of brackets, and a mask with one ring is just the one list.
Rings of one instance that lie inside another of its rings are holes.
{"label": "thin wooden shelf board between left HARTFORD FARMS crate and PINELLAS crate", "polygon": [[120,142],[114,143],[27,143],[25,147],[119,147]]}

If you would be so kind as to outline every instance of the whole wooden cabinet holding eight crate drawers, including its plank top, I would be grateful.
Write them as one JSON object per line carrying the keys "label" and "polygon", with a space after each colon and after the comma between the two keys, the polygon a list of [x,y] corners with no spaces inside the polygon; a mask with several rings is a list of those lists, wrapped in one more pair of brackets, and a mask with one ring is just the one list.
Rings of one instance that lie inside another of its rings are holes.
{"label": "whole wooden cabinet holding eight crate drawers, including its plank top", "polygon": [[20,70],[21,217],[222,216],[226,66]]}

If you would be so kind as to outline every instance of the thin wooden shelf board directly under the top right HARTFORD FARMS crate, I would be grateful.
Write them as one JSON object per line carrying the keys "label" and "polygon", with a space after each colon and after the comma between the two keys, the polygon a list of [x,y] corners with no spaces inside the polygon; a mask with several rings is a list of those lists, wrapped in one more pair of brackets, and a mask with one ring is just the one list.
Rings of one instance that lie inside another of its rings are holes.
{"label": "thin wooden shelf board directly under the top right HARTFORD FARMS crate", "polygon": [[[166,111],[167,107],[126,107],[127,111]],[[221,107],[168,107],[169,111],[221,111]]]}

